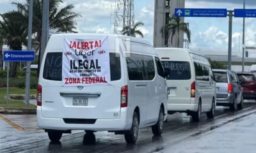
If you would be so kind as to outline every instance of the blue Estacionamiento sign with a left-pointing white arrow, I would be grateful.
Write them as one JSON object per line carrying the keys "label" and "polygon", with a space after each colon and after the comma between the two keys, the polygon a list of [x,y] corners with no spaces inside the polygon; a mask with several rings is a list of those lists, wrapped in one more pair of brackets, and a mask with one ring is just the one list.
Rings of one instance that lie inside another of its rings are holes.
{"label": "blue Estacionamiento sign with a left-pointing white arrow", "polygon": [[5,62],[33,62],[35,52],[26,50],[4,50]]}

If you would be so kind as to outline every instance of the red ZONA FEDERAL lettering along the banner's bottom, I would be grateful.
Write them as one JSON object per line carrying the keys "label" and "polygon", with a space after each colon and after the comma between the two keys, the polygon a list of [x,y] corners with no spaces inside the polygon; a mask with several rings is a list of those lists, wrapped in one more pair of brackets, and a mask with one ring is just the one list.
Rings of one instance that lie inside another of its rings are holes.
{"label": "red ZONA FEDERAL lettering along the banner's bottom", "polygon": [[105,77],[83,77],[83,78],[65,78],[65,84],[102,84],[106,82]]}

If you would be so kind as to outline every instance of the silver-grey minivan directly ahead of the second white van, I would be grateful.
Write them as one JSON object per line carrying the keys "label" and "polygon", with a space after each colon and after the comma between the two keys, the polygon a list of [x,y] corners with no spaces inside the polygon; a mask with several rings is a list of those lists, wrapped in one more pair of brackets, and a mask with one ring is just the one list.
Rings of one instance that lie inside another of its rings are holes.
{"label": "silver-grey minivan directly ahead of the second white van", "polygon": [[243,109],[243,88],[234,71],[212,69],[216,81],[217,106],[229,106],[230,110]]}

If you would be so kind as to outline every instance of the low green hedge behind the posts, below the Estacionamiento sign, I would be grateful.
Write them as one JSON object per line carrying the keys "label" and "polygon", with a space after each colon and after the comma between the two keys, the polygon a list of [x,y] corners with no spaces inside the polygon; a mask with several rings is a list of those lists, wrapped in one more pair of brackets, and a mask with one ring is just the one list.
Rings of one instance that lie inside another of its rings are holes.
{"label": "low green hedge behind the posts, below the Estacionamiento sign", "polygon": [[[38,85],[38,78],[30,78],[30,89],[36,89]],[[6,78],[0,79],[0,87],[7,87]],[[9,78],[9,87],[18,87],[24,89],[26,87],[26,77]]]}

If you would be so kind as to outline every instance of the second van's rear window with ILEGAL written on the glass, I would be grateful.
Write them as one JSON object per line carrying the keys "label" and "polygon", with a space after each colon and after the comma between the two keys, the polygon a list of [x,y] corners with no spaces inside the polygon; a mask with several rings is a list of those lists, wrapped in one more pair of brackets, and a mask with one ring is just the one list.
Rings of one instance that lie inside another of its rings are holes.
{"label": "second van's rear window with ILEGAL written on the glass", "polygon": [[189,80],[191,78],[190,64],[186,61],[161,61],[163,68],[170,70],[167,80]]}

